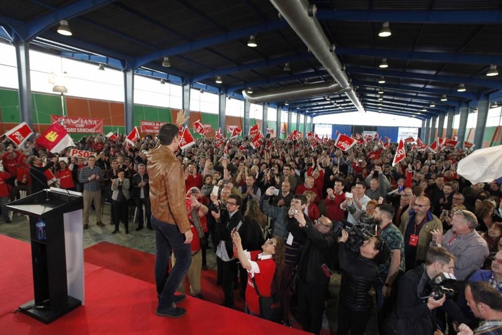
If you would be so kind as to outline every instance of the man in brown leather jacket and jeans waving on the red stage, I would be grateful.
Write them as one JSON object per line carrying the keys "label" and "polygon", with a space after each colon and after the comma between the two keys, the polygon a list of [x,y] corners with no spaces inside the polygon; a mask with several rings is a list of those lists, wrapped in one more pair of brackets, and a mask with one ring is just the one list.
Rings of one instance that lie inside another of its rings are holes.
{"label": "man in brown leather jacket and jeans waving on the red stage", "polygon": [[[193,235],[186,211],[184,172],[174,154],[180,143],[178,126],[163,125],[158,137],[160,145],[147,154],[151,221],[157,247],[155,279],[159,306],[156,312],[161,316],[179,317],[186,310],[176,307],[175,303],[185,299],[185,295],[174,295],[174,292],[192,262]],[[176,254],[176,265],[167,278],[170,249]]]}

